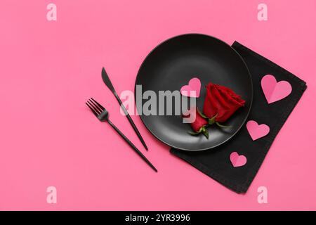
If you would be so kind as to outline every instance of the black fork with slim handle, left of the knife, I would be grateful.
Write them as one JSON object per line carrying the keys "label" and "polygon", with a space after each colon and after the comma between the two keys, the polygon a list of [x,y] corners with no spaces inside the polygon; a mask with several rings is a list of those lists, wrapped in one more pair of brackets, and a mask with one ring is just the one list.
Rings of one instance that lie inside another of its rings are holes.
{"label": "black fork with slim handle, left of the knife", "polygon": [[98,120],[100,120],[100,122],[108,122],[111,127],[113,127],[113,129],[115,131],[117,131],[117,133],[127,142],[129,143],[129,146],[131,146],[131,148],[133,148],[133,150],[136,151],[136,153],[138,153],[138,155],[145,160],[145,162],[147,163],[147,165],[149,165],[150,167],[152,167],[152,169],[154,169],[155,172],[158,172],[157,169],[154,167],[154,165],[152,165],[152,163],[147,160],[147,158],[145,158],[145,155],[143,155],[143,153],[140,152],[140,150],[138,150],[138,148],[136,148],[136,146],[134,146],[133,143],[131,143],[131,141],[129,141],[129,139],[126,138],[126,136],[117,128],[114,126],[114,124],[112,124],[112,122],[109,120],[109,113],[107,112],[107,110],[100,105],[100,103],[98,103],[96,100],[94,100],[93,98],[90,98],[87,102],[86,105],[88,105],[88,108],[91,109],[92,113],[94,115],[96,115],[96,117],[98,118]]}

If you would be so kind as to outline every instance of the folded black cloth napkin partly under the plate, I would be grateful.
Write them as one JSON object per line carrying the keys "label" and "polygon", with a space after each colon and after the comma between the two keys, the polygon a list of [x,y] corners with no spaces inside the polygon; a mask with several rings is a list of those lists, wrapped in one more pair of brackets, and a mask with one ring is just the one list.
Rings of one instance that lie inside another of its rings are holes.
{"label": "folded black cloth napkin partly under the plate", "polygon": [[[245,124],[230,141],[212,150],[190,152],[171,148],[171,153],[190,163],[204,174],[211,176],[220,184],[237,193],[245,193],[261,167],[275,136],[279,133],[307,86],[303,80],[291,72],[247,49],[237,41],[232,44],[232,48],[244,58],[254,83],[254,101],[247,121],[255,120],[258,124],[267,124],[270,127],[269,134],[253,141]],[[289,82],[292,86],[291,94],[282,100],[268,104],[261,89],[261,79],[265,75],[275,76],[278,82],[281,80]],[[246,164],[233,167],[232,162],[230,162],[232,152],[244,155]]]}

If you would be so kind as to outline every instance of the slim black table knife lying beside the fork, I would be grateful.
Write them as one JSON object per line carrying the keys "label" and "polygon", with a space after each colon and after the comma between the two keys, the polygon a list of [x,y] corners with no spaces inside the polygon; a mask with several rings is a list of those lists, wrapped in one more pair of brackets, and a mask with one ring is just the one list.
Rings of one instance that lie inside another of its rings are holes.
{"label": "slim black table knife lying beside the fork", "polygon": [[112,93],[114,94],[115,98],[117,98],[117,101],[119,102],[119,105],[121,105],[121,109],[124,111],[124,114],[126,115],[127,119],[129,119],[129,123],[131,124],[131,126],[134,129],[134,131],[136,132],[136,134],[137,134],[138,138],[140,139],[141,143],[143,143],[143,146],[145,147],[145,149],[148,150],[143,137],[140,135],[140,132],[138,131],[136,125],[133,122],[133,120],[131,119],[131,116],[129,115],[129,113],[127,112],[125,106],[121,102],[121,99],[117,95],[117,91],[115,91],[114,86],[113,86],[112,82],[110,81],[110,77],[107,75],[107,72],[105,72],[105,68],[102,68],[102,79],[103,79],[103,82],[105,83],[105,85],[110,89],[110,91],[112,91]]}

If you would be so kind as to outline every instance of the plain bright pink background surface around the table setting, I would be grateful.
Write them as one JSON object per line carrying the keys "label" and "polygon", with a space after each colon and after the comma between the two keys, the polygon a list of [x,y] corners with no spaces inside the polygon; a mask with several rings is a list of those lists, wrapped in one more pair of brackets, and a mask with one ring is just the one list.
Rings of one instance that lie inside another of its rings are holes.
{"label": "plain bright pink background surface around the table setting", "polygon": [[[261,2],[268,21],[257,20]],[[1,0],[0,210],[316,210],[315,8],[313,0]],[[145,152],[100,77],[105,66],[119,93],[133,90],[147,53],[190,32],[237,40],[308,83],[244,195],[171,155],[134,116]],[[93,117],[90,96],[157,174]],[[48,186],[57,204],[46,203]],[[268,204],[258,204],[259,186]]]}

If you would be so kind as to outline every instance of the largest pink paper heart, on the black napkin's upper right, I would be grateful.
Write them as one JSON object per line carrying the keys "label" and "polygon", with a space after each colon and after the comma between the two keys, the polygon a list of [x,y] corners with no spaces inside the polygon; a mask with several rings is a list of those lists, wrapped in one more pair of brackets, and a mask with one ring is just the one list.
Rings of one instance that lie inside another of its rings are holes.
{"label": "largest pink paper heart, on the black napkin's upper right", "polygon": [[284,80],[277,82],[273,75],[265,75],[261,79],[261,87],[269,104],[287,97],[292,91],[289,82]]}

